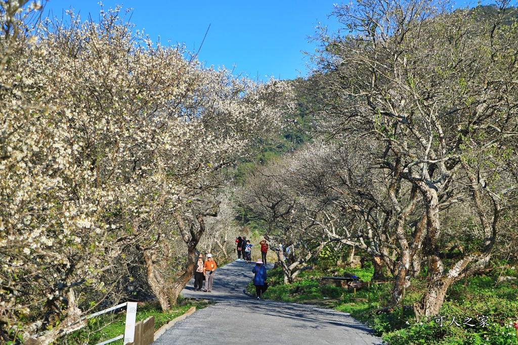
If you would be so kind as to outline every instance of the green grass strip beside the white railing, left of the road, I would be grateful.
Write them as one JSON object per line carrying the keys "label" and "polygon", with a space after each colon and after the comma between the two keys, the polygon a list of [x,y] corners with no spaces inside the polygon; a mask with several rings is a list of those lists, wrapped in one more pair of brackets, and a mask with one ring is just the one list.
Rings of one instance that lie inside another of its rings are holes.
{"label": "green grass strip beside the white railing, left of the road", "polygon": [[[137,307],[136,322],[146,320],[147,318],[155,317],[155,331],[189,310],[193,305],[187,304],[185,306],[175,306],[169,312],[162,312],[160,305],[157,303],[148,303]],[[196,304],[196,308],[204,308],[207,305]],[[119,311],[117,313],[106,313],[101,316],[92,318],[88,322],[88,326],[66,335],[56,341],[56,344],[66,345],[93,345],[111,338],[115,338],[124,334],[126,313]],[[122,345],[123,339],[111,342],[110,345]]]}

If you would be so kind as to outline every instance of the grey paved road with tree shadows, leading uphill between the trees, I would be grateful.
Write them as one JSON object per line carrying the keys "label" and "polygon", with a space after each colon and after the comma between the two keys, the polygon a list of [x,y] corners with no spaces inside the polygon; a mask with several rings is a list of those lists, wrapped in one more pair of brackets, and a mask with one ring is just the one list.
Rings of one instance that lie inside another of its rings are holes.
{"label": "grey paved road with tree shadows, leading uphill between the trees", "polygon": [[315,306],[256,301],[243,293],[253,264],[234,261],[215,271],[212,293],[191,284],[184,297],[212,297],[214,306],[178,322],[154,345],[171,344],[345,344],[379,345],[382,340],[347,313]]}

